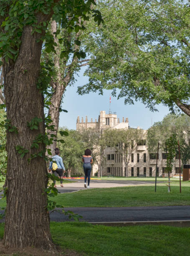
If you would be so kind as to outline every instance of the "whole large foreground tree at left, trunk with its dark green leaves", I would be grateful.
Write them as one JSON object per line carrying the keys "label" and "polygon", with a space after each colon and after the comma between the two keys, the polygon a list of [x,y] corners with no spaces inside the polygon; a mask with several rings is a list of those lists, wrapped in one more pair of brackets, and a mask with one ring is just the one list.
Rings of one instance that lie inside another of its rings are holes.
{"label": "whole large foreground tree at left, trunk with its dark green leaves", "polygon": [[[44,96],[48,64],[40,63],[43,42],[56,52],[51,19],[71,31],[79,17],[99,13],[93,0],[1,0],[0,57],[7,109],[7,210],[3,243],[6,247],[54,248],[47,211]],[[69,15],[68,15],[69,14]],[[59,31],[56,32],[56,35]],[[76,56],[80,56],[78,51]]]}

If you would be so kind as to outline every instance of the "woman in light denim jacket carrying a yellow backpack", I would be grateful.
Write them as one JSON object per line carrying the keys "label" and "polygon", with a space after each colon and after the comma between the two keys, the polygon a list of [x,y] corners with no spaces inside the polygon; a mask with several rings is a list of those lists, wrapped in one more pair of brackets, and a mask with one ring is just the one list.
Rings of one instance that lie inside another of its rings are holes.
{"label": "woman in light denim jacket carrying a yellow backpack", "polygon": [[[63,159],[61,158],[61,156],[59,156],[59,154],[60,154],[59,148],[55,148],[54,150],[55,150],[55,156],[52,157],[53,161],[51,161],[49,163],[49,172],[52,171],[53,174],[57,174],[60,177],[61,187],[63,187],[63,171],[65,173],[65,167],[64,167],[64,164],[63,164]],[[56,162],[56,164],[57,164],[57,169],[56,170],[52,169],[53,162]],[[54,183],[54,187],[57,187],[55,180],[53,181],[53,183]]]}

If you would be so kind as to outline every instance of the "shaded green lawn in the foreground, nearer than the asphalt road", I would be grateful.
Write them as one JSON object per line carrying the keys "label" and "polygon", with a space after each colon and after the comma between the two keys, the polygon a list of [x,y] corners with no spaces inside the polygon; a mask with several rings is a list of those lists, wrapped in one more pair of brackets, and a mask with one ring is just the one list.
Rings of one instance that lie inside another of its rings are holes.
{"label": "shaded green lawn in the foreground, nearer than the asphalt road", "polygon": [[[0,224],[3,238],[4,224]],[[187,256],[190,228],[164,225],[109,227],[89,223],[51,222],[54,243],[81,255],[105,256]]]}

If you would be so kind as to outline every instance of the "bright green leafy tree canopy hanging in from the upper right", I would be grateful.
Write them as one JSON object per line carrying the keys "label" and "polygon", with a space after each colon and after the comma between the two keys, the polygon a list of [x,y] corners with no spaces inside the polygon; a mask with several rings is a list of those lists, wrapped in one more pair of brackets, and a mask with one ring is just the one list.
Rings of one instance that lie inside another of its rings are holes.
{"label": "bright green leafy tree canopy hanging in from the upper right", "polygon": [[[101,0],[100,27],[89,25],[89,83],[79,93],[142,101],[151,110],[162,103],[190,116],[190,8],[185,0]],[[118,89],[118,90],[116,90]]]}

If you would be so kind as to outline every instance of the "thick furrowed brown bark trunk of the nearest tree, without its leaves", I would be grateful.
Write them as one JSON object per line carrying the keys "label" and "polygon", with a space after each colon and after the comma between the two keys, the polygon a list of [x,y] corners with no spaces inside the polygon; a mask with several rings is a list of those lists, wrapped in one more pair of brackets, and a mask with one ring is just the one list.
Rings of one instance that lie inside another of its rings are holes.
{"label": "thick furrowed brown bark trunk of the nearest tree, without its leaves", "polygon": [[[38,131],[30,130],[27,126],[27,122],[34,117],[44,120],[43,95],[36,86],[42,47],[37,39],[41,35],[31,35],[31,32],[32,27],[24,28],[17,60],[12,65],[11,60],[4,64],[7,118],[11,125],[17,127],[18,134],[7,132],[8,189],[3,243],[6,247],[49,249],[53,243],[46,208],[47,195],[43,194],[48,182],[46,161],[36,157],[31,163],[28,162],[30,154],[45,150],[42,143],[38,149],[30,148],[38,134],[45,134],[44,121],[39,124]],[[15,149],[17,145],[29,150],[23,158]]]}

